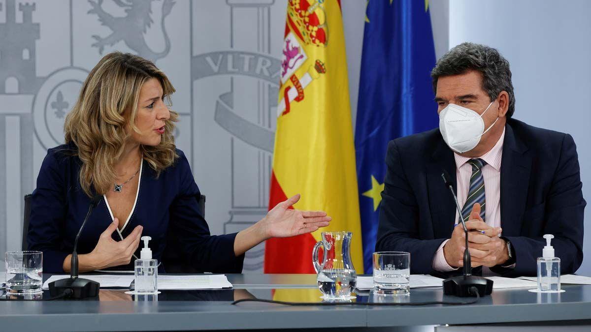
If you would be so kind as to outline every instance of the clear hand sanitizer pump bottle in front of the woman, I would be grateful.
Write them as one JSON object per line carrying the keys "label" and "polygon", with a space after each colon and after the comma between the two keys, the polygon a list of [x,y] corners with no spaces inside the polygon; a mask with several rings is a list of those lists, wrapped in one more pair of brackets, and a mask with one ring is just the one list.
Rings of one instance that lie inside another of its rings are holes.
{"label": "clear hand sanitizer pump bottle in front of the woman", "polygon": [[155,294],[158,292],[158,261],[152,259],[152,250],[148,247],[150,236],[142,236],[144,248],[139,253],[139,259],[135,260],[135,293],[136,294]]}

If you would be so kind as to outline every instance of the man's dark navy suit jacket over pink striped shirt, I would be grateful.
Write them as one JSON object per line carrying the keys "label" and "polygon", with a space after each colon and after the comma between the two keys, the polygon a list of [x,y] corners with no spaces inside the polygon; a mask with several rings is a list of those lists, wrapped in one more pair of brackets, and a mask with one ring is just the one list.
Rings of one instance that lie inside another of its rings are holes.
{"label": "man's dark navy suit jacket over pink striped shirt", "polygon": [[[411,273],[440,275],[431,263],[454,227],[455,204],[441,179],[447,170],[456,190],[453,152],[439,129],[433,129],[389,142],[386,164],[376,251],[410,252]],[[561,273],[577,271],[583,261],[586,205],[581,188],[570,135],[508,119],[501,161],[501,227],[515,249],[516,265],[493,271],[536,275],[544,234],[554,235]]]}

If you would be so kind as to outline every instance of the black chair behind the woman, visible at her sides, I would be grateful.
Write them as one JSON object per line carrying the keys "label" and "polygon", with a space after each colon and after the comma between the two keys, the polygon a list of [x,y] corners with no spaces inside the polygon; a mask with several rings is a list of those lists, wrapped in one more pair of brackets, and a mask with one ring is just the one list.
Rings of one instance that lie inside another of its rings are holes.
{"label": "black chair behind the woman, visible at her sides", "polygon": [[[22,250],[27,250],[27,233],[29,231],[29,220],[31,218],[31,194],[25,195],[25,209],[24,217],[22,222]],[[205,216],[205,195],[199,197],[199,209],[203,216]],[[168,273],[200,273],[203,271],[197,271],[187,261],[186,255],[183,257],[178,254],[180,252],[178,248],[178,242],[176,241],[176,235],[174,232],[168,232],[167,234],[167,246],[164,249],[162,255],[164,262],[164,269]]]}

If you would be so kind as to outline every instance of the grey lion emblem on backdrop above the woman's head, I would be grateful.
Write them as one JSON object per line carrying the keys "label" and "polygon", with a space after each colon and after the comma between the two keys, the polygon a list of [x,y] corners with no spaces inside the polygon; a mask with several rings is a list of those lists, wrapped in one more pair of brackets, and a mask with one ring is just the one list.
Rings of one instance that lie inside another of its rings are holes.
{"label": "grey lion emblem on backdrop above the woman's head", "polygon": [[164,20],[168,17],[174,6],[173,0],[164,0],[162,4],[162,18],[160,19],[160,27],[164,35],[164,50],[160,53],[153,51],[145,40],[145,34],[152,21],[152,2],[155,0],[113,0],[116,5],[125,8],[125,17],[113,17],[102,8],[103,0],[88,2],[92,8],[88,14],[98,15],[99,21],[111,29],[112,33],[106,37],[93,35],[92,38],[96,40],[92,47],[96,47],[99,53],[103,53],[105,45],[112,46],[119,41],[124,41],[127,47],[134,50],[139,56],[156,61],[168,55],[170,52],[170,38],[164,27]]}

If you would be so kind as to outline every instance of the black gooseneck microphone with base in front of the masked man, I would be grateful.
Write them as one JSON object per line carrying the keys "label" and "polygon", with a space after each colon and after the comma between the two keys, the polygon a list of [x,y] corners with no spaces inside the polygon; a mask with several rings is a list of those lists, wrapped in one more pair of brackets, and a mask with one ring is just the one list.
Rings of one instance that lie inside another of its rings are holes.
{"label": "black gooseneck microphone with base in front of the masked man", "polygon": [[443,294],[454,295],[457,297],[469,297],[476,295],[473,294],[472,291],[472,287],[475,287],[478,289],[478,294],[480,296],[489,295],[492,293],[492,280],[482,278],[482,276],[472,275],[472,260],[470,259],[470,251],[468,250],[468,229],[462,218],[462,209],[460,209],[460,204],[457,203],[457,196],[453,191],[452,181],[450,181],[449,174],[447,174],[446,170],[443,170],[441,173],[441,178],[443,178],[443,182],[452,193],[453,201],[456,203],[458,218],[460,219],[460,223],[462,223],[464,234],[466,235],[466,250],[464,250],[463,258],[464,273],[460,276],[452,276],[451,278],[445,279],[443,281]]}

